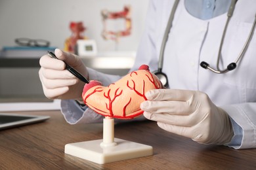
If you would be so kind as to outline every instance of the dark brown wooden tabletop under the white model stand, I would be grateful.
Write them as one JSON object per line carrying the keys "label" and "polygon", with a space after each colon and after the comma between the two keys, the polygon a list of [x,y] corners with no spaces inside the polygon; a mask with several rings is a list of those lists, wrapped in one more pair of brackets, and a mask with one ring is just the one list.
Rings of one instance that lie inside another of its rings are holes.
{"label": "dark brown wooden tabletop under the white model stand", "polygon": [[256,169],[256,149],[198,144],[155,122],[115,125],[115,137],[153,146],[154,155],[99,165],[64,154],[64,145],[102,139],[102,124],[67,124],[60,111],[46,122],[0,131],[0,169]]}

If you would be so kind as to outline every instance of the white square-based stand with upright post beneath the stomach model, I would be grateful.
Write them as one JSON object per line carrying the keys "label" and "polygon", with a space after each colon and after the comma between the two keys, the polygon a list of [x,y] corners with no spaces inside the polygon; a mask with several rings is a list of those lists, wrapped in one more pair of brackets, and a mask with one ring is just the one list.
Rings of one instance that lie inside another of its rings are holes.
{"label": "white square-based stand with upright post beneath the stomach model", "polygon": [[150,156],[153,154],[153,148],[145,144],[114,138],[114,119],[104,118],[103,139],[66,144],[65,154],[104,164]]}

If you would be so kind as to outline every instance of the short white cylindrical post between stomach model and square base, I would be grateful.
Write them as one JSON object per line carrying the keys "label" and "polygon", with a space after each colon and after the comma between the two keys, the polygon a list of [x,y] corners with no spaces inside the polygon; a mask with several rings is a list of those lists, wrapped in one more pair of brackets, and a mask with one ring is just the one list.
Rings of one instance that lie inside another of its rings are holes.
{"label": "short white cylindrical post between stomach model and square base", "polygon": [[114,118],[106,117],[103,119],[103,142],[102,147],[115,146],[114,142]]}

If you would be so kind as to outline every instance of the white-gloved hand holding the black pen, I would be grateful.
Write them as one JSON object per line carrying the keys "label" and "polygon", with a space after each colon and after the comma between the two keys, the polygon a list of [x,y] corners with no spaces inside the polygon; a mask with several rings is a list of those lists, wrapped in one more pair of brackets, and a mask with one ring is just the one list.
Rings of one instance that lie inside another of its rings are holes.
{"label": "white-gloved hand holding the black pen", "polygon": [[45,96],[50,99],[81,99],[85,83],[66,70],[63,61],[88,78],[83,61],[79,56],[63,52],[60,49],[55,50],[55,55],[58,59],[45,55],[39,61],[41,65],[39,78]]}

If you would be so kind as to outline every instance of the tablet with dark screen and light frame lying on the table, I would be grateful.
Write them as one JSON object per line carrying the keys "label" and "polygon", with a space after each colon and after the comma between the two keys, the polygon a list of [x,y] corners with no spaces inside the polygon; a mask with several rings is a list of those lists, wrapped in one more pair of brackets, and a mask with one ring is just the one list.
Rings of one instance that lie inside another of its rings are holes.
{"label": "tablet with dark screen and light frame lying on the table", "polygon": [[49,118],[50,116],[0,113],[0,129],[35,124],[38,122],[43,122]]}

